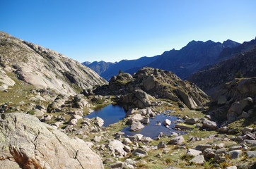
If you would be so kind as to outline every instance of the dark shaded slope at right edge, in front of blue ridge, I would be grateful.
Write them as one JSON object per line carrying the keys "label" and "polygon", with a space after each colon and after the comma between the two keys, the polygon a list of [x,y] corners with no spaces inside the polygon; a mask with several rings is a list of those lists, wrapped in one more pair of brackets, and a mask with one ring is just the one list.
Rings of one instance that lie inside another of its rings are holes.
{"label": "dark shaded slope at right edge, in front of blue ridge", "polygon": [[216,91],[221,84],[234,80],[235,77],[255,77],[256,45],[250,50],[233,56],[214,67],[202,70],[189,79],[209,94]]}

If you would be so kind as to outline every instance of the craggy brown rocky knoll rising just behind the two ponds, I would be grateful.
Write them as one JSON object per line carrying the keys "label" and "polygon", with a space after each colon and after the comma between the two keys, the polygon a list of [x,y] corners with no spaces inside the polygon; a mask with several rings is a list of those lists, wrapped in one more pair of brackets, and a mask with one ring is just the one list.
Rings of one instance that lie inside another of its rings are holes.
{"label": "craggy brown rocky knoll rising just behind the two ponds", "polygon": [[[188,108],[203,106],[209,101],[209,96],[195,84],[181,80],[172,72],[148,67],[141,68],[133,76],[120,73],[112,77],[109,89],[116,94],[123,94],[121,102],[126,106],[136,102],[134,98],[144,102],[139,104],[139,107],[150,106],[152,96],[158,99],[170,99],[178,106]],[[143,101],[144,98],[141,96],[145,96],[146,100]]]}

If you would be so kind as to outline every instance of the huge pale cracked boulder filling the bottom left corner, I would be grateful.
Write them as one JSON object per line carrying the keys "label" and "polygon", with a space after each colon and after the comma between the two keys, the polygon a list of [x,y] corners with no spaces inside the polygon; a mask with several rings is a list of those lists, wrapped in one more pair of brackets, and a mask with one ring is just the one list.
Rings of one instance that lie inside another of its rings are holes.
{"label": "huge pale cracked boulder filling the bottom left corner", "polygon": [[33,115],[1,114],[0,135],[0,168],[104,168],[86,142]]}

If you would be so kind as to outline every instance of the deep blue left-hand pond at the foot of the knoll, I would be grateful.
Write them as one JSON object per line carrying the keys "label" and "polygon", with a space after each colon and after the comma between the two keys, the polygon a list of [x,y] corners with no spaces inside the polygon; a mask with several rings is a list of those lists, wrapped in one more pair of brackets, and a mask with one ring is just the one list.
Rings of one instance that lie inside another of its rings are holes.
{"label": "deep blue left-hand pond at the foot of the knoll", "polygon": [[100,110],[95,110],[92,113],[84,116],[83,118],[95,118],[99,117],[104,120],[104,125],[111,125],[113,123],[117,123],[125,117],[124,108],[117,105],[109,104]]}

